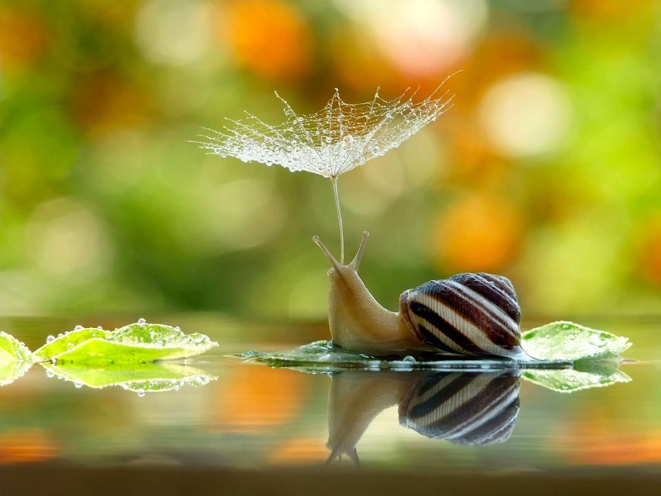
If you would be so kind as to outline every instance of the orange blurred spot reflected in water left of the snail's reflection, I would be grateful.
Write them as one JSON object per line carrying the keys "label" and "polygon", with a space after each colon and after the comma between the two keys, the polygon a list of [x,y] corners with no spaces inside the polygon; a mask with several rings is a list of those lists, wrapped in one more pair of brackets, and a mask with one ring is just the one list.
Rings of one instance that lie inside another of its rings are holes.
{"label": "orange blurred spot reflected in water left of the snail's reflection", "polygon": [[304,378],[295,371],[242,366],[218,397],[220,431],[260,432],[290,422],[299,411]]}

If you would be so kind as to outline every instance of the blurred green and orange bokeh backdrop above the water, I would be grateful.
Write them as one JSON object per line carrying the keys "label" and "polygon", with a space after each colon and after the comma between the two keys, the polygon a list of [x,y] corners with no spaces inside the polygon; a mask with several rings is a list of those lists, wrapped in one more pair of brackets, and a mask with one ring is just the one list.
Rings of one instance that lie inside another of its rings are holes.
{"label": "blurred green and orange bokeh backdrop above the water", "polygon": [[458,69],[340,179],[377,299],[490,271],[525,315],[658,312],[660,59],[652,0],[0,1],[0,312],[322,318],[329,181],[187,140]]}

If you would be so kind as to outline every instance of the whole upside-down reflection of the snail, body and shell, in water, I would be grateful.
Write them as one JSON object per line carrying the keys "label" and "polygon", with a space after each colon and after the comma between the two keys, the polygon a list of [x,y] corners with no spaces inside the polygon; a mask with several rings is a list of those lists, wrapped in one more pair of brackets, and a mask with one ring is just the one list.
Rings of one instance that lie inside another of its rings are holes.
{"label": "whole upside-down reflection of the snail, body and shell, in water", "polygon": [[399,423],[454,444],[505,442],[518,415],[520,378],[498,372],[344,371],[333,376],[328,396],[328,462],[347,454],[375,417],[399,404]]}

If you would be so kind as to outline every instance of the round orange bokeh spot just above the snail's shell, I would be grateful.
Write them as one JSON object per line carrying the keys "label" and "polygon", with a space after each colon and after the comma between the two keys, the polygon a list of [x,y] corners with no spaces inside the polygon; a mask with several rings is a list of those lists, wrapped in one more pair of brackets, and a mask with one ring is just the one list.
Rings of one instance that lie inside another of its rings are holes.
{"label": "round orange bokeh spot just above the snail's shell", "polygon": [[521,242],[521,218],[509,203],[469,196],[438,218],[434,229],[437,262],[461,271],[495,271],[512,260]]}

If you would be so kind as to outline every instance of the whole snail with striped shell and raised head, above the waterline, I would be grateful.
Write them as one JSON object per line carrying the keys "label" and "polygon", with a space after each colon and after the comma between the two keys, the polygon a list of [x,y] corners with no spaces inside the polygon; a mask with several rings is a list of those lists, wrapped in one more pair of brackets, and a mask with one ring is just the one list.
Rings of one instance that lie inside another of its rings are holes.
{"label": "whole snail with striped shell and raised head, above the waterline", "polygon": [[461,273],[407,289],[399,312],[385,309],[358,276],[368,231],[356,256],[338,262],[319,236],[313,241],[332,268],[328,321],[333,342],[372,355],[443,351],[527,358],[520,347],[521,309],[512,282],[487,273]]}

